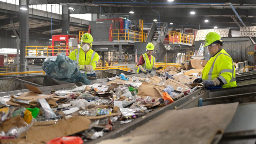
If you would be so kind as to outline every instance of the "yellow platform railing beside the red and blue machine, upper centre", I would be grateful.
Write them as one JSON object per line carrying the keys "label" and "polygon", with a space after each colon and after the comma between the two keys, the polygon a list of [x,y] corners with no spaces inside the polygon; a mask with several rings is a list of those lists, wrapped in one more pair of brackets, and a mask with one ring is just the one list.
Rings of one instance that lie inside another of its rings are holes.
{"label": "yellow platform railing beside the red and blue machine, upper centre", "polygon": [[138,32],[130,29],[113,29],[111,30],[111,37],[117,40],[134,40],[134,42],[145,42],[147,33]]}

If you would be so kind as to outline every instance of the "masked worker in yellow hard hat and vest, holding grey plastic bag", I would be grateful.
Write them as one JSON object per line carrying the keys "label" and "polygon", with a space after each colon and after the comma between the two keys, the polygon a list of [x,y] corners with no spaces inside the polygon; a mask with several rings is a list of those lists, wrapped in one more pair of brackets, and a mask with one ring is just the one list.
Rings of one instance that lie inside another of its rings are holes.
{"label": "masked worker in yellow hard hat and vest, holding grey plastic bag", "polygon": [[93,37],[85,33],[81,38],[82,48],[77,48],[69,54],[69,58],[78,62],[79,72],[95,75],[99,54],[91,49]]}

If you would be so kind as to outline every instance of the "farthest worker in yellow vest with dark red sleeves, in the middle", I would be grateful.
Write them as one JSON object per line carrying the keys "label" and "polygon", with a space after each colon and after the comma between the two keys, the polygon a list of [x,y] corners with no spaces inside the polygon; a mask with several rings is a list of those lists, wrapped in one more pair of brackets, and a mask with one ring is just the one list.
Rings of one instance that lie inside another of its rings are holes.
{"label": "farthest worker in yellow vest with dark red sleeves, in the middle", "polygon": [[163,68],[154,66],[155,57],[151,55],[155,49],[153,43],[148,43],[146,49],[147,53],[144,53],[139,57],[137,73],[143,72],[144,74],[147,74],[148,72],[150,73],[152,69],[159,70]]}

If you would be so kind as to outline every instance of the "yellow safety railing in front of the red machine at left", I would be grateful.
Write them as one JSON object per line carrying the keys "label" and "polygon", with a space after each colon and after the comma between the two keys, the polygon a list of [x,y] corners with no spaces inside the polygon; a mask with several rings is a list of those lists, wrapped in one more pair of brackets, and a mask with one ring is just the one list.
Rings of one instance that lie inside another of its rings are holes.
{"label": "yellow safety railing in front of the red machine at left", "polygon": [[52,56],[58,53],[69,55],[76,46],[26,46],[26,56]]}

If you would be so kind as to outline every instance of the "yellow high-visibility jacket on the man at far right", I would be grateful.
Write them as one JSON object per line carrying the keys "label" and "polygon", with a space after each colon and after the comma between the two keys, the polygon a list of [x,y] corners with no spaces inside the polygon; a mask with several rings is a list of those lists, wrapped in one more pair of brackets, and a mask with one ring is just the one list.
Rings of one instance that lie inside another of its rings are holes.
{"label": "yellow high-visibility jacket on the man at far right", "polygon": [[217,77],[224,83],[222,88],[237,86],[234,62],[224,49],[211,57],[202,71],[203,82]]}

